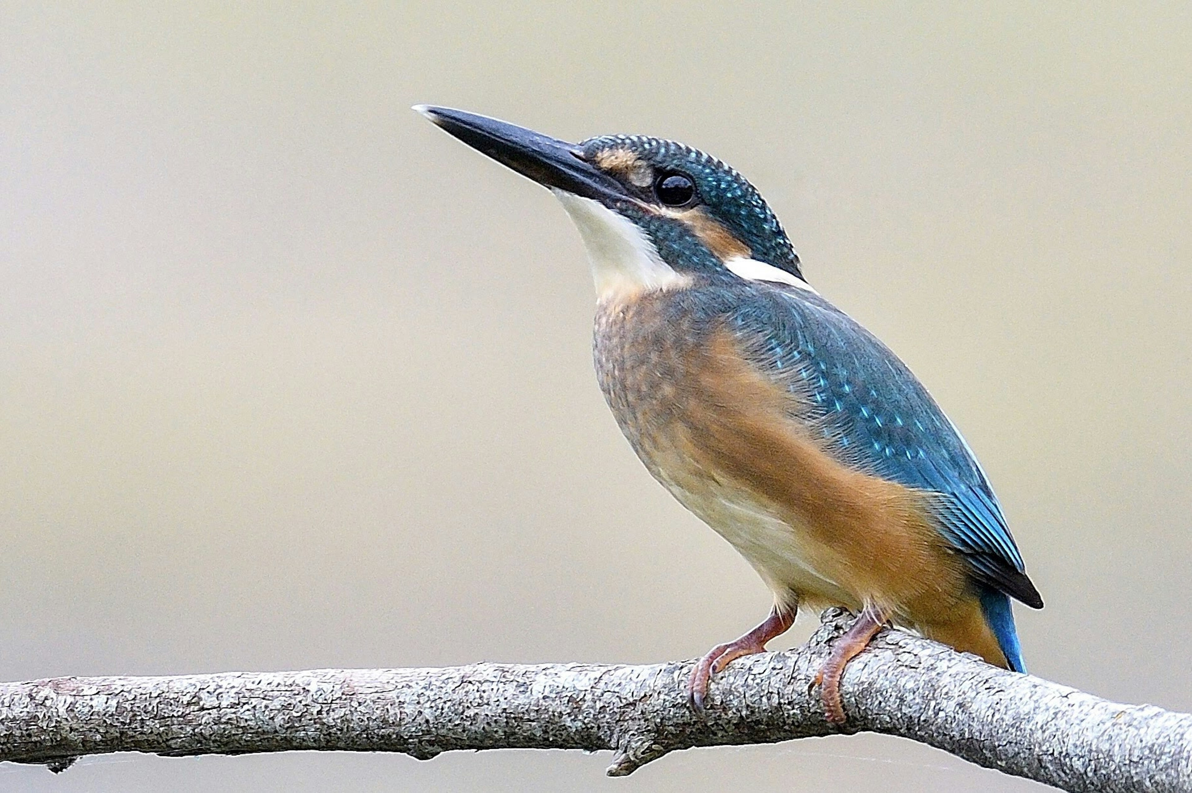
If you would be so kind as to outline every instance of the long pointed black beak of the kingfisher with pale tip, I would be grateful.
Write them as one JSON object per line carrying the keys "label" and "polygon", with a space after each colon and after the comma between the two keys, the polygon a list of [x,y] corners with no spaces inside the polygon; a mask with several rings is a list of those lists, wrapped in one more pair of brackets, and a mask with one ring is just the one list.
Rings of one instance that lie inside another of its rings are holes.
{"label": "long pointed black beak of the kingfisher with pale tip", "polygon": [[583,160],[579,146],[488,115],[449,107],[415,105],[436,126],[544,187],[596,199],[623,200],[625,187]]}

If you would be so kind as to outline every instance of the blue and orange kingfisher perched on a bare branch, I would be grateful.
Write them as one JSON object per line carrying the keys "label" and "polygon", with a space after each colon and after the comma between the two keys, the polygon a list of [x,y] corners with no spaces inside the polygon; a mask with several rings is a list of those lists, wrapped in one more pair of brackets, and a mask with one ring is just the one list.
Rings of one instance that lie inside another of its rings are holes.
{"label": "blue and orange kingfisher perched on a bare branch", "polygon": [[693,708],[801,607],[858,614],[815,681],[834,724],[845,666],[887,623],[1026,672],[1011,598],[1043,600],[973,450],[906,364],[807,282],[744,176],[673,141],[573,144],[415,110],[563,204],[596,285],[595,367],[616,423],[774,594],[765,620],[695,666]]}

